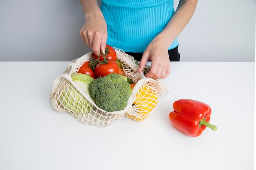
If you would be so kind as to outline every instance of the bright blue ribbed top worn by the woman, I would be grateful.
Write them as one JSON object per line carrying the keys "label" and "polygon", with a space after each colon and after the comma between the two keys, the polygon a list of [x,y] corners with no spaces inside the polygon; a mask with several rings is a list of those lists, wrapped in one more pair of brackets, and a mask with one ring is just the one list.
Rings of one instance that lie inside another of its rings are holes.
{"label": "bright blue ribbed top worn by the woman", "polygon": [[[102,0],[108,26],[107,44],[126,52],[143,53],[173,16],[173,0]],[[178,46],[177,38],[169,49]]]}

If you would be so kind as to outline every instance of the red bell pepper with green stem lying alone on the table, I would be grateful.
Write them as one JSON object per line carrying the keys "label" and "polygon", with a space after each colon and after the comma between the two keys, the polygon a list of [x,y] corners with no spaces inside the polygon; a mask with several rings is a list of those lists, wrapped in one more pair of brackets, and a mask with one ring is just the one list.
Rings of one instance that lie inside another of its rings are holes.
{"label": "red bell pepper with green stem lying alone on the table", "polygon": [[169,119],[175,128],[186,135],[197,137],[206,127],[217,130],[216,126],[209,124],[211,108],[203,102],[180,99],[173,103],[173,109]]}

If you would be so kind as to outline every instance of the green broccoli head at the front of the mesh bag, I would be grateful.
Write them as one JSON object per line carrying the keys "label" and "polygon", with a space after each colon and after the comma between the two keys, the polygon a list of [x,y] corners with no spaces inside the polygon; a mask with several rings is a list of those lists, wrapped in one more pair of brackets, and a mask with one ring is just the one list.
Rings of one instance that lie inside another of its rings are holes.
{"label": "green broccoli head at the front of the mesh bag", "polygon": [[89,92],[99,108],[113,112],[126,108],[132,90],[119,74],[112,73],[92,80]]}

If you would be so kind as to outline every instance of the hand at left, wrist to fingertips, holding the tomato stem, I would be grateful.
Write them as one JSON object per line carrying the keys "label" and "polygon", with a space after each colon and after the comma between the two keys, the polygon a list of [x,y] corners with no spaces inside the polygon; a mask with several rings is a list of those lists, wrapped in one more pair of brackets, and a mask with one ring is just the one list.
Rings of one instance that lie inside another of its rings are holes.
{"label": "hand at left, wrist to fingertips, holding the tomato stem", "polygon": [[79,31],[83,42],[99,55],[100,50],[104,53],[108,38],[107,24],[101,14],[85,15],[85,24]]}

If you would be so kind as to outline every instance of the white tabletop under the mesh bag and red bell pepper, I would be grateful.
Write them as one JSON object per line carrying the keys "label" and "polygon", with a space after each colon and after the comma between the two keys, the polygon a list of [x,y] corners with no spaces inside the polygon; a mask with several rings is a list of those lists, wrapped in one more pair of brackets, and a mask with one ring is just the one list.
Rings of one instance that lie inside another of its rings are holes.
{"label": "white tabletop under the mesh bag and red bell pepper", "polygon": [[[70,62],[0,62],[0,170],[252,170],[254,62],[171,62],[161,96],[145,121],[110,127],[79,122],[52,108],[53,81]],[[199,137],[168,119],[178,99],[212,109]]]}

